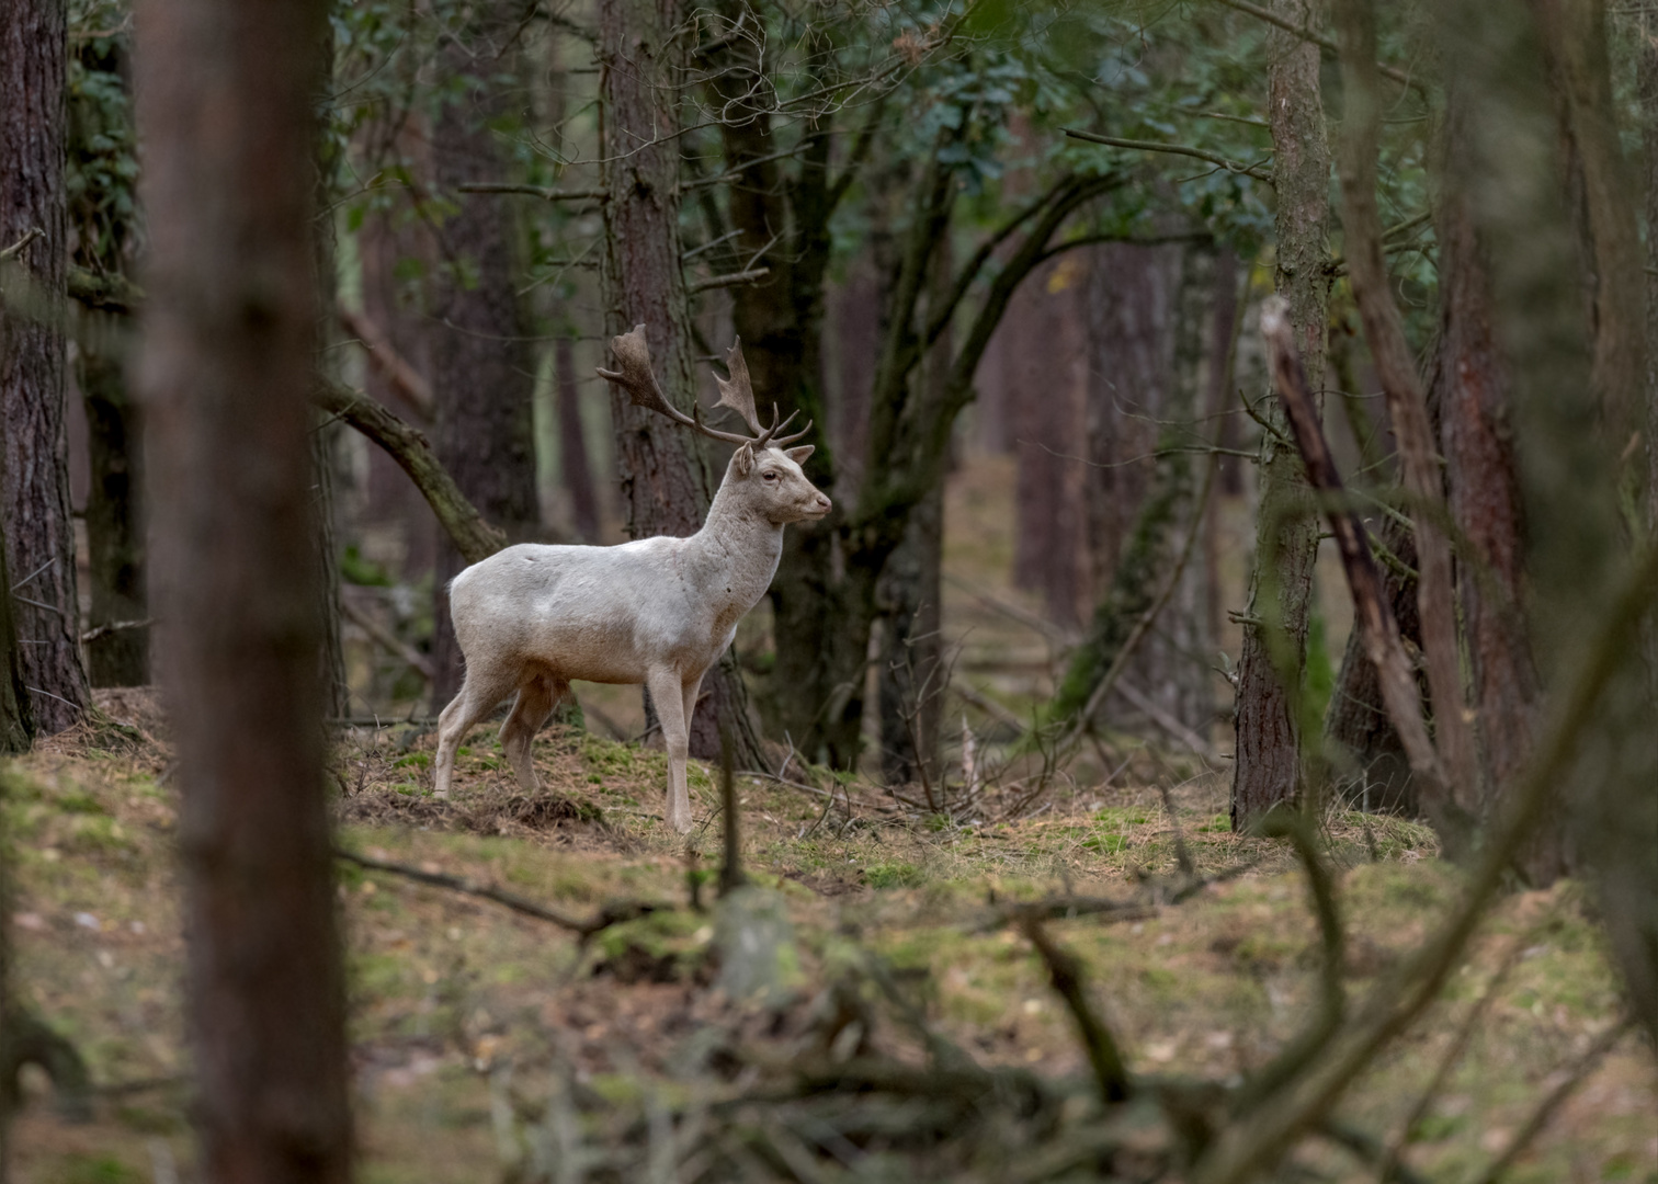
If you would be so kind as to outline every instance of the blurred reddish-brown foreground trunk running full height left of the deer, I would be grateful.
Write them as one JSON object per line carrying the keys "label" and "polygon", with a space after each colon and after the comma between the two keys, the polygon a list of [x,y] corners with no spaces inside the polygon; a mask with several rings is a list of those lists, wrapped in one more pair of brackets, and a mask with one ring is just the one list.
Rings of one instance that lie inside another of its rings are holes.
{"label": "blurred reddish-brown foreground trunk running full height left of the deer", "polygon": [[[320,3],[141,0],[141,395],[211,1181],[347,1181],[312,511]],[[216,194],[204,202],[202,194]]]}

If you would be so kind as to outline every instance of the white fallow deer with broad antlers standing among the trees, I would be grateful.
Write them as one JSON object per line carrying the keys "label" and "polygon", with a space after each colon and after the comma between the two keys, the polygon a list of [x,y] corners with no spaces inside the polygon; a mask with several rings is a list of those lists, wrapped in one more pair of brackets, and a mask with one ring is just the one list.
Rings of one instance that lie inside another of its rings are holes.
{"label": "white fallow deer with broad antlers standing among the trees", "polygon": [[[473,564],[449,585],[454,637],[466,655],[466,683],[438,716],[436,793],[446,798],[454,750],[509,695],[501,746],[526,791],[536,791],[531,741],[570,680],[643,683],[668,746],[668,826],[691,829],[685,783],[686,731],[703,675],[731,645],[736,624],[771,587],[783,527],[819,519],[829,499],[806,479],[811,444],[784,448],[804,431],[778,436],[788,420],[761,428],[741,342],[726,358],[720,406],[753,436],[715,431],[701,408],[685,415],[652,373],[645,327],[610,342],[617,370],[600,370],[635,406],[658,411],[705,436],[736,444],[703,529],[688,539],[655,537],[615,547],[519,544]],[[793,416],[789,416],[793,420]]]}

